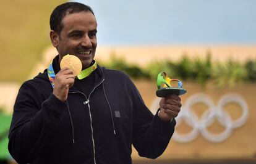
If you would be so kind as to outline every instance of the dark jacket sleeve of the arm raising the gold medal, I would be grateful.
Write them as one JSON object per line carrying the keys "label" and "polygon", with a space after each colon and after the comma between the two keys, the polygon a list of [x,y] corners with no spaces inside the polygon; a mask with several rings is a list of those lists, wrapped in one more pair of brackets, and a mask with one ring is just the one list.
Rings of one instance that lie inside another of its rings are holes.
{"label": "dark jacket sleeve of the arm raising the gold medal", "polygon": [[31,162],[58,128],[67,108],[53,94],[44,100],[33,85],[24,83],[17,95],[9,130],[8,149],[19,163]]}

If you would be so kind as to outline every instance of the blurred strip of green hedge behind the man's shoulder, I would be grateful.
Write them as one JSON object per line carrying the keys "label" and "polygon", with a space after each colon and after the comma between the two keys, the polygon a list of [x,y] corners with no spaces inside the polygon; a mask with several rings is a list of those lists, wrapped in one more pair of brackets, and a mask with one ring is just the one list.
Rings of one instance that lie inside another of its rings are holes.
{"label": "blurred strip of green hedge behind the man's shoulder", "polygon": [[234,60],[227,62],[212,62],[211,52],[207,53],[206,59],[190,59],[183,54],[181,60],[173,62],[154,61],[146,67],[139,67],[135,64],[128,64],[123,58],[115,55],[107,63],[99,62],[106,68],[117,69],[126,72],[131,78],[145,78],[156,80],[159,72],[167,72],[171,78],[178,78],[182,81],[196,81],[202,86],[207,81],[213,81],[217,86],[234,86],[236,83],[256,81],[256,60],[248,60],[244,64]]}

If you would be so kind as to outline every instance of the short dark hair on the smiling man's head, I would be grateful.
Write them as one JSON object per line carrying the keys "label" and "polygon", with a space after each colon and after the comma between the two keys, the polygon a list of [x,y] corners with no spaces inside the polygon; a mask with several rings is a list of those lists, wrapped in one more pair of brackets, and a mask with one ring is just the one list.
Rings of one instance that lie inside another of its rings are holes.
{"label": "short dark hair on the smiling man's head", "polygon": [[61,33],[61,30],[63,28],[62,19],[67,14],[82,11],[92,12],[92,14],[94,15],[93,10],[90,6],[87,6],[79,2],[66,2],[64,4],[57,6],[51,13],[49,21],[51,30],[55,31],[56,33]]}

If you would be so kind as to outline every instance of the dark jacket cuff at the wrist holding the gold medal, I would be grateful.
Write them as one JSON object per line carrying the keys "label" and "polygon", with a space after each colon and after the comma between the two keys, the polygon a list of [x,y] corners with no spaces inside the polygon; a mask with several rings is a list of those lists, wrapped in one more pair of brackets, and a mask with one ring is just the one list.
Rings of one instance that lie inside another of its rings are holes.
{"label": "dark jacket cuff at the wrist holding the gold medal", "polygon": [[64,113],[64,109],[67,108],[67,103],[59,100],[54,94],[51,94],[43,104],[47,105],[50,109],[56,110],[58,113]]}

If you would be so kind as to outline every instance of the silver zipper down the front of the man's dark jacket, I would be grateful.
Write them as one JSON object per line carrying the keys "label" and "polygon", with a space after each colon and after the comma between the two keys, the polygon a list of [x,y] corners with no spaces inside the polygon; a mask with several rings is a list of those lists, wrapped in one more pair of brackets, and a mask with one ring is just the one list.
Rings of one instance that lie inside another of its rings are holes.
{"label": "silver zipper down the front of the man's dark jacket", "polygon": [[[103,80],[98,83],[92,90],[92,92],[98,87],[100,86],[101,83],[103,83],[105,79],[103,78]],[[92,131],[92,142],[93,142],[93,160],[94,160],[94,164],[96,164],[96,158],[95,158],[95,142],[94,142],[94,138],[93,138],[93,126],[92,126],[92,113],[91,113],[91,108],[90,108],[90,96],[92,94],[92,92],[90,92],[89,96],[88,96],[88,99],[87,99],[87,96],[83,93],[83,92],[70,92],[70,93],[80,93],[80,94],[83,94],[83,96],[85,96],[85,99],[86,101],[83,102],[83,104],[88,104],[88,109],[89,109],[89,115],[90,115],[90,124],[91,124],[91,131]]]}

